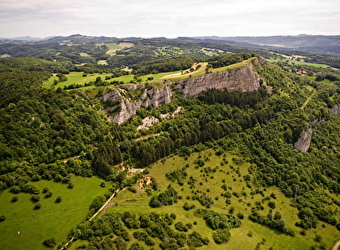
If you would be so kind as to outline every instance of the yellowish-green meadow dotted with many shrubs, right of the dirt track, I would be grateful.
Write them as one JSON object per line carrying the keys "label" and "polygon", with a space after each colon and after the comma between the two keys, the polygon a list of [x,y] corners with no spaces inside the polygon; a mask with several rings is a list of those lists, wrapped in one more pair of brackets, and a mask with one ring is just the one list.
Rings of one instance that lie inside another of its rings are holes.
{"label": "yellowish-green meadow dotted with many shrubs, right of the dirt track", "polygon": [[[223,156],[216,156],[213,150],[206,150],[201,153],[193,153],[185,160],[183,157],[174,156],[168,158],[166,161],[158,162],[149,169],[147,176],[152,176],[156,179],[159,184],[159,188],[164,190],[169,184],[172,185],[178,191],[182,199],[178,200],[172,206],[162,206],[160,208],[151,208],[148,203],[150,196],[146,194],[144,189],[140,185],[136,185],[137,193],[132,193],[128,190],[124,190],[119,193],[117,197],[112,200],[111,206],[106,212],[123,213],[126,211],[142,214],[142,213],[174,213],[177,215],[176,222],[181,221],[183,223],[197,222],[189,232],[198,231],[202,236],[209,238],[209,245],[201,247],[200,249],[255,249],[256,245],[265,239],[264,249],[310,249],[312,245],[315,245],[315,235],[319,234],[322,236],[322,244],[326,246],[326,249],[330,249],[335,239],[338,238],[339,233],[335,227],[329,226],[328,224],[322,225],[319,223],[316,229],[308,230],[305,236],[301,235],[301,228],[295,226],[295,222],[299,219],[297,217],[297,209],[292,207],[292,200],[285,197],[277,188],[257,188],[252,184],[252,188],[247,187],[244,181],[244,175],[248,174],[248,168],[250,163],[234,163],[235,159],[239,157],[227,153],[225,160]],[[195,161],[197,159],[205,159],[205,165],[203,167],[196,167]],[[243,161],[243,159],[241,160]],[[227,163],[228,162],[228,163]],[[244,219],[240,228],[232,229],[231,239],[227,244],[217,245],[212,239],[213,230],[208,228],[202,218],[198,218],[194,215],[194,210],[203,207],[197,200],[192,200],[190,197],[193,195],[193,190],[190,189],[187,184],[188,178],[184,181],[184,185],[169,181],[165,174],[175,169],[181,169],[189,164],[187,168],[188,177],[192,176],[197,180],[196,191],[205,193],[214,199],[214,204],[211,205],[210,209],[220,212],[229,213],[231,207],[234,208],[234,214],[242,213]],[[223,166],[222,166],[223,165]],[[216,172],[204,173],[204,168],[217,167]],[[226,198],[221,196],[224,192],[221,185],[225,183],[231,192],[236,193],[230,200],[231,204],[226,204]],[[251,194],[252,191],[258,189],[260,193]],[[261,194],[263,192],[263,194]],[[154,191],[153,195],[158,192]],[[242,195],[241,195],[242,194]],[[266,215],[269,212],[267,205],[268,199],[264,201],[264,198],[270,197],[271,194],[275,194],[276,199],[270,198],[270,201],[276,203],[276,208],[273,210],[278,211],[282,215],[282,219],[285,221],[286,226],[291,228],[295,232],[295,236],[287,236],[276,230],[270,229],[266,226],[254,223],[248,219],[251,213],[251,207],[254,206],[255,202],[263,204],[264,210],[261,214]],[[183,209],[184,203],[194,204],[195,209],[185,211]],[[174,226],[172,225],[175,230]],[[159,244],[160,242],[158,242]],[[240,245],[242,244],[242,245]],[[77,245],[77,244],[76,244]],[[242,246],[240,248],[240,246]],[[146,247],[146,246],[145,246]],[[261,248],[262,249],[262,248]]]}

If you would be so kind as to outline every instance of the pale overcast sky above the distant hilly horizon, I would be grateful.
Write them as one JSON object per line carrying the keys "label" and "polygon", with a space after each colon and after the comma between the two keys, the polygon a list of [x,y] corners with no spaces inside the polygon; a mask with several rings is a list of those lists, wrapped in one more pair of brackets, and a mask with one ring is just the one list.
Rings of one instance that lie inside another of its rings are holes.
{"label": "pale overcast sky above the distant hilly horizon", "polygon": [[340,0],[0,0],[0,37],[340,35]]}

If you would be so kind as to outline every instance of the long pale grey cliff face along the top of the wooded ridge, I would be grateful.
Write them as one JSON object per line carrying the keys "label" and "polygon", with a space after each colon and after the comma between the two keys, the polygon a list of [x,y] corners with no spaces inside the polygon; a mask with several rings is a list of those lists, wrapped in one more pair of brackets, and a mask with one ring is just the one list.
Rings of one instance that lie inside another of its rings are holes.
{"label": "long pale grey cliff face along the top of the wooded ridge", "polygon": [[177,91],[184,97],[195,97],[209,89],[242,92],[257,90],[266,83],[254,71],[254,67],[261,68],[263,63],[266,62],[260,57],[243,67],[177,82],[123,85],[104,94],[100,99],[114,103],[106,111],[113,113],[112,121],[122,124],[136,115],[140,108],[150,106],[157,108],[162,104],[170,103],[172,91]]}

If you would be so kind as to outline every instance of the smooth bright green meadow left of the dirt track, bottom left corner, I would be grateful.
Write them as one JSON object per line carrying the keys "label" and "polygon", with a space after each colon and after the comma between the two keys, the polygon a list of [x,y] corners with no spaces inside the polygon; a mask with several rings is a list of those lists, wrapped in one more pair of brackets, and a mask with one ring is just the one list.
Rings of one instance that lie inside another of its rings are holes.
{"label": "smooth bright green meadow left of the dirt track, bottom left corner", "polygon": [[[0,214],[5,215],[6,220],[0,224],[0,248],[46,249],[42,245],[45,239],[54,237],[57,244],[66,240],[69,231],[89,212],[93,199],[107,192],[107,188],[100,187],[103,180],[97,177],[72,176],[71,181],[73,189],[53,181],[33,182],[40,190],[41,208],[37,210],[30,200],[31,194],[14,195],[9,190],[4,191],[0,196]],[[45,187],[53,193],[52,197],[44,198],[41,191]],[[13,196],[18,196],[18,201],[11,202]],[[58,196],[62,201],[55,203]]]}

